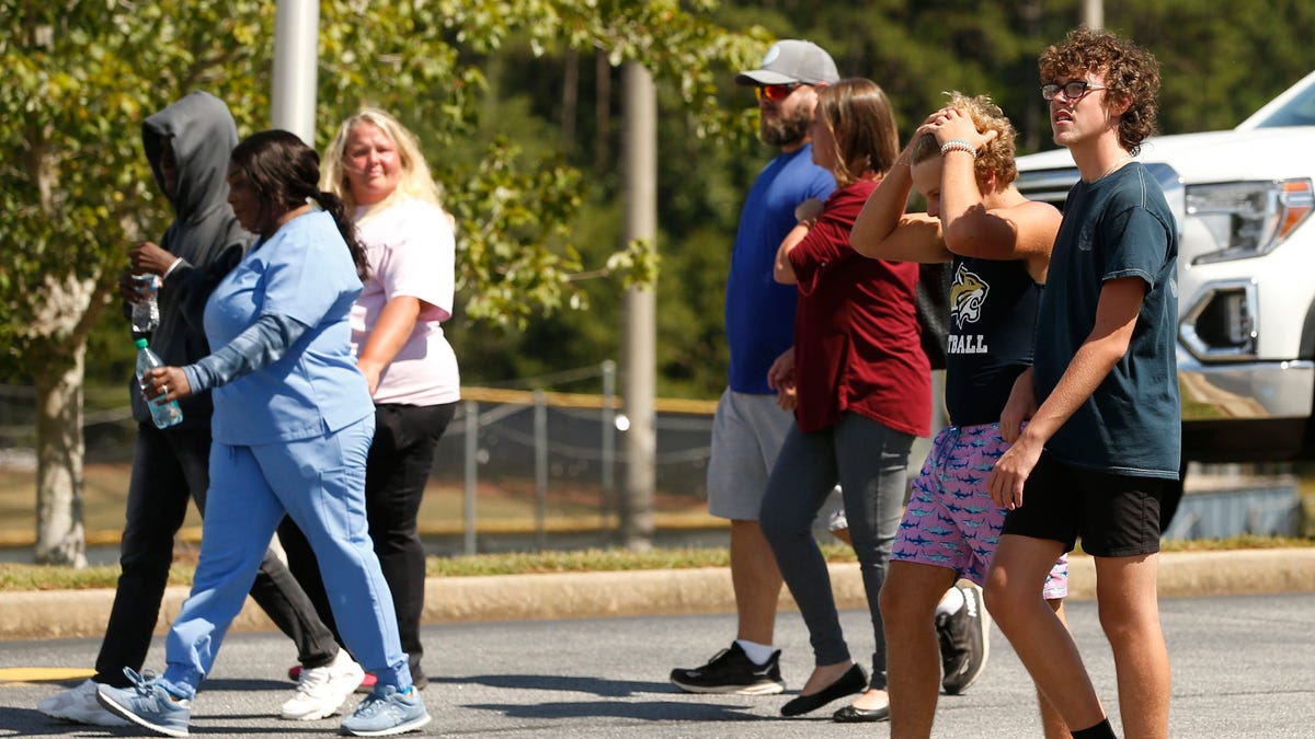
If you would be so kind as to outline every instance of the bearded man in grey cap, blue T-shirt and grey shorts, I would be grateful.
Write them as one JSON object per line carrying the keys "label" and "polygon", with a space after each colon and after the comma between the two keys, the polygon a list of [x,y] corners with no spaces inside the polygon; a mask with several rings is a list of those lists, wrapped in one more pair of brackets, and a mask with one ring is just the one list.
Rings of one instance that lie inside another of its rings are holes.
{"label": "bearded man in grey cap, blue T-shirt and grey shorts", "polygon": [[[839,82],[835,62],[815,43],[778,41],[761,68],[735,82],[757,95],[759,135],[777,150],[753,180],[740,212],[726,280],[730,377],[713,418],[707,512],[731,522],[731,586],[735,640],[707,664],[677,668],[671,681],[690,693],[768,696],[785,689],[781,652],[772,646],[781,571],[757,515],[767,479],[794,414],[793,394],[767,383],[767,371],[794,343],[794,285],[772,279],[776,251],[797,225],[794,208],[835,189],[828,170],[813,163],[809,121],[817,89]],[[780,401],[780,405],[778,405]]]}

